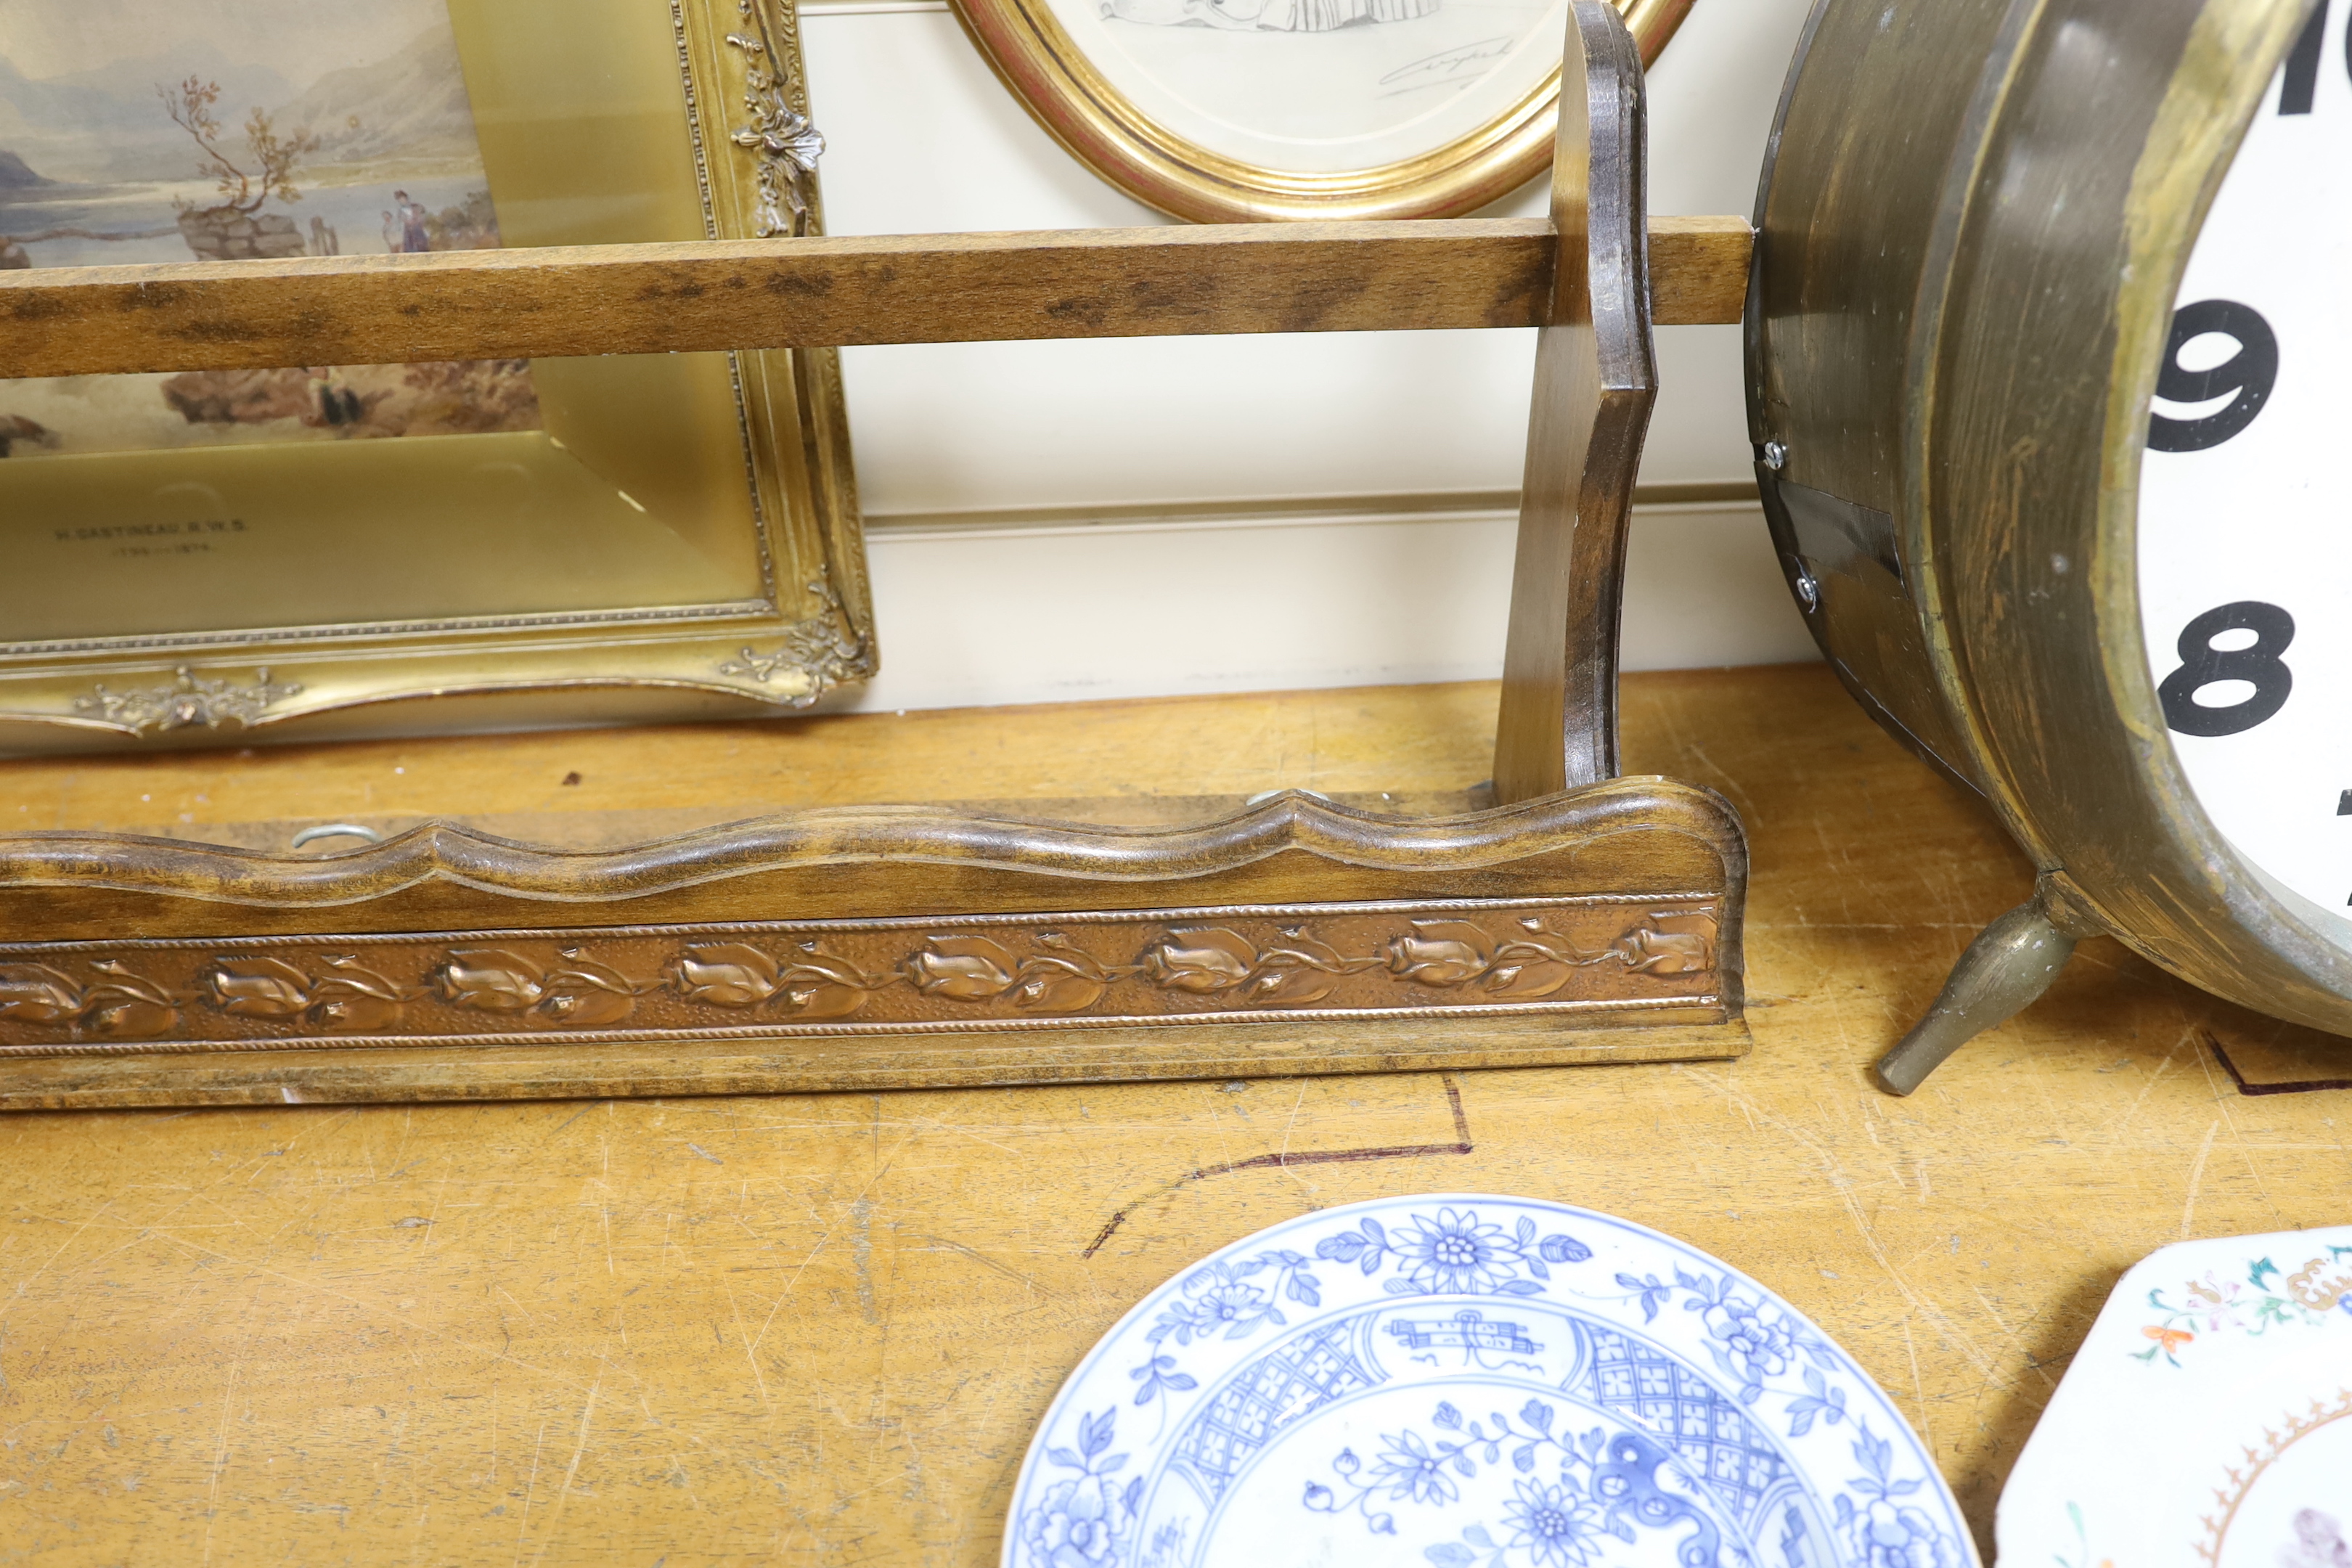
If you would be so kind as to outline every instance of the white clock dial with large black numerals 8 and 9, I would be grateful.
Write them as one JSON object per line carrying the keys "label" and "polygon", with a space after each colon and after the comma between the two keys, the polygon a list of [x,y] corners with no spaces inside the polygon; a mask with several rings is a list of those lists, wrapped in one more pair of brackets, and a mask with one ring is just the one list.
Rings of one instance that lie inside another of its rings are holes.
{"label": "white clock dial with large black numerals 8 and 9", "polygon": [[2352,903],[2347,12],[2324,0],[2223,179],[2140,465],[2140,616],[2180,766],[2241,856],[2336,914]]}

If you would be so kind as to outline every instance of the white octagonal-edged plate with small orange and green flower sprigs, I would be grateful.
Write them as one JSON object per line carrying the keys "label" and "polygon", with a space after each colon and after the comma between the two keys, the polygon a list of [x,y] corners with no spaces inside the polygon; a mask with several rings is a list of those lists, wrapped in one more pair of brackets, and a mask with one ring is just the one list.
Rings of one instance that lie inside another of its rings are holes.
{"label": "white octagonal-edged plate with small orange and green flower sprigs", "polygon": [[2352,1225],[2183,1241],[2124,1274],[1994,1535],[2032,1568],[2352,1566]]}

